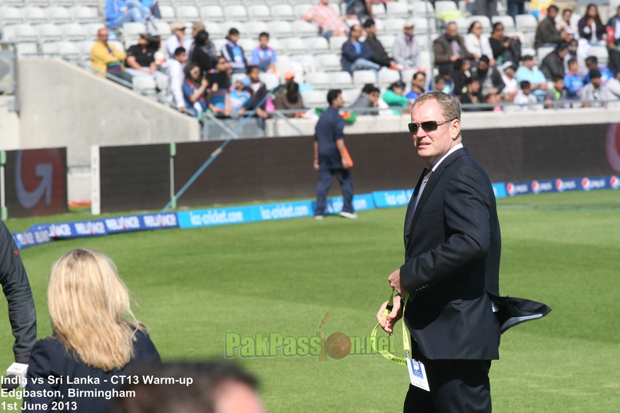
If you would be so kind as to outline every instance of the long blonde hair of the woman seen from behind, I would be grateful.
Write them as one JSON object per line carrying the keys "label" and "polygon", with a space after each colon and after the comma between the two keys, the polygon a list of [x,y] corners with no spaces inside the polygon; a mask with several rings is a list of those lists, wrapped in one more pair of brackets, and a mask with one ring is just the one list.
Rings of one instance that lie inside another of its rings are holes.
{"label": "long blonde hair of the woman seen from behind", "polygon": [[111,371],[134,356],[135,333],[144,326],[114,262],[101,252],[79,248],[54,262],[47,306],[64,347],[89,366]]}

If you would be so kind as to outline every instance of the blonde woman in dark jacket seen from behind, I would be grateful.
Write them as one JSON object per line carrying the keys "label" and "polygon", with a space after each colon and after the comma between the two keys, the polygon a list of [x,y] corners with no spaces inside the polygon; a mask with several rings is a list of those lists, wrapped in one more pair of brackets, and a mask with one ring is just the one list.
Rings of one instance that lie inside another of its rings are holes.
{"label": "blonde woman in dark jacket seen from behind", "polygon": [[47,306],[54,332],[33,347],[26,390],[36,396],[24,397],[24,411],[106,412],[127,368],[160,361],[115,264],[101,252],[71,250],[55,262]]}

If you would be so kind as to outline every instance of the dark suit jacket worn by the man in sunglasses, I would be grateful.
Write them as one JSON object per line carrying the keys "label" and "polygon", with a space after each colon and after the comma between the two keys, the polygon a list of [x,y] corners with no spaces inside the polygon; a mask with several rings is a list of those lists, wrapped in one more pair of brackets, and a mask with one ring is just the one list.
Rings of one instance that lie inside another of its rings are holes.
{"label": "dark suit jacket worn by the man in sunglasses", "polygon": [[493,187],[467,149],[445,158],[405,219],[405,320],[428,359],[499,359],[500,226]]}

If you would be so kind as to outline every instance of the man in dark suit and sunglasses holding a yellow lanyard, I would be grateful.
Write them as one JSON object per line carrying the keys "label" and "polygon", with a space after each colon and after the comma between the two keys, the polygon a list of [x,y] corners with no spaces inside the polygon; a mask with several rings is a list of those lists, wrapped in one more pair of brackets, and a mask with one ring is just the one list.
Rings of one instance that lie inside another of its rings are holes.
{"label": "man in dark suit and sunglasses holding a yellow lanyard", "polygon": [[[500,323],[487,291],[499,293],[500,226],[490,180],[461,144],[460,119],[459,101],[442,92],[420,95],[411,110],[413,143],[429,168],[407,209],[405,263],[389,282],[409,294],[411,356],[423,362],[430,391],[410,385],[404,412],[491,412]],[[386,332],[403,305],[396,300],[381,321]]]}

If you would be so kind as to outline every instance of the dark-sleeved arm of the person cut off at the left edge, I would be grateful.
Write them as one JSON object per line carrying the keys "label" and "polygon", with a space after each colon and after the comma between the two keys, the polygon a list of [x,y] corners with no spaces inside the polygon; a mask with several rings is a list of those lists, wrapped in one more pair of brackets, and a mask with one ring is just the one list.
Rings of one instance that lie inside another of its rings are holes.
{"label": "dark-sleeved arm of the person cut off at the left edge", "polygon": [[15,337],[13,354],[17,363],[28,363],[37,341],[37,313],[21,255],[3,221],[0,221],[0,284],[8,301],[8,320]]}

